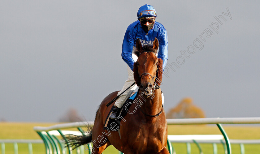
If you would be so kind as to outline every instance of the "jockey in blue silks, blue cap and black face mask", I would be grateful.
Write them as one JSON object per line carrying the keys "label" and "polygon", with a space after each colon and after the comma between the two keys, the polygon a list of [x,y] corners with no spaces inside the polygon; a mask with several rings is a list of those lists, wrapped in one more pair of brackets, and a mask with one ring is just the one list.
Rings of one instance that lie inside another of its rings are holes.
{"label": "jockey in blue silks, blue cap and black face mask", "polygon": [[[154,38],[156,37],[159,41],[159,51],[157,57],[163,59],[163,68],[166,66],[168,59],[167,31],[162,24],[155,22],[156,17],[157,14],[153,6],[147,4],[141,6],[137,12],[138,20],[130,24],[125,32],[122,58],[128,65],[128,79],[125,81],[125,84],[118,95],[135,82],[132,70],[134,62],[136,62],[138,58],[133,53],[133,50],[136,49],[135,45],[137,38],[140,39],[142,45],[153,45]],[[119,109],[123,106],[123,103],[128,98],[129,93],[132,93],[135,89],[137,89],[136,84],[129,88],[116,100],[113,111],[109,116],[110,119],[117,118]],[[162,101],[164,101],[163,94]]]}

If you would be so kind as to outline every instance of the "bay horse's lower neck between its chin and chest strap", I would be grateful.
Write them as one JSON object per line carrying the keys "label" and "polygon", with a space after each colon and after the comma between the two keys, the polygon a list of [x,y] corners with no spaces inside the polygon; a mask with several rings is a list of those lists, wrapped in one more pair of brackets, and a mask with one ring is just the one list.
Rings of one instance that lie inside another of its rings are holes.
{"label": "bay horse's lower neck between its chin and chest strap", "polygon": [[[139,93],[141,94],[141,93]],[[156,115],[162,110],[162,92],[161,89],[154,90],[150,97],[142,97],[145,101],[141,105],[142,111],[149,115]],[[142,100],[141,100],[142,101]]]}

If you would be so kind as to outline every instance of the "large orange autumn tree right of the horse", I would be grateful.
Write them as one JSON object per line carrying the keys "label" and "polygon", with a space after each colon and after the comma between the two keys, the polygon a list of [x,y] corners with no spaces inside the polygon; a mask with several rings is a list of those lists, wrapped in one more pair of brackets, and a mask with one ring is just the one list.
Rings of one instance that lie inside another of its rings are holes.
{"label": "large orange autumn tree right of the horse", "polygon": [[192,98],[184,98],[176,107],[166,115],[167,118],[205,118],[202,109],[193,104]]}

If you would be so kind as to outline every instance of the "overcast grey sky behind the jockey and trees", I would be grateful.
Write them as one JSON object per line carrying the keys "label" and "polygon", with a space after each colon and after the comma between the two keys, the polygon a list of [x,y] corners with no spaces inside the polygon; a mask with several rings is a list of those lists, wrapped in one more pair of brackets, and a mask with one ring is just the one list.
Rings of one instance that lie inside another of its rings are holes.
{"label": "overcast grey sky behind the jockey and trees", "polygon": [[191,97],[209,118],[259,117],[259,1],[2,0],[0,119],[57,122],[75,108],[94,120],[127,79],[124,33],[144,4],[168,32],[168,64],[179,62],[163,76],[166,112]]}

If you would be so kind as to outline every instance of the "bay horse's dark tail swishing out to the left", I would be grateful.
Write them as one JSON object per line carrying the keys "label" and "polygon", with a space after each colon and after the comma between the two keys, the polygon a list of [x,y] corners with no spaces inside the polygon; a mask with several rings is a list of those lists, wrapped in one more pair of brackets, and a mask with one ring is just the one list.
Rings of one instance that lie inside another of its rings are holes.
{"label": "bay horse's dark tail swishing out to the left", "polygon": [[66,145],[65,148],[70,146],[70,147],[72,147],[72,150],[74,150],[81,145],[85,145],[85,144],[91,142],[92,130],[93,130],[93,127],[91,127],[89,129],[89,131],[85,132],[84,135],[70,135],[68,137],[65,137],[64,139],[65,139],[65,141],[67,140],[67,143],[68,143],[68,145]]}

